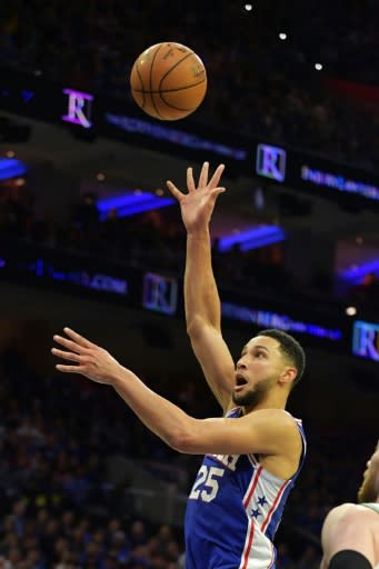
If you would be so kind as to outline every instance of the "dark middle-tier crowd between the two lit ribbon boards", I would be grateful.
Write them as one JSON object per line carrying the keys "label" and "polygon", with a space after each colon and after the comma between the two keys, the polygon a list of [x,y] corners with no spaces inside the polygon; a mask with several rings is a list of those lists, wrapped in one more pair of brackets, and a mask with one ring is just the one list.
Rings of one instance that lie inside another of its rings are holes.
{"label": "dark middle-tier crowd between the two lit ribbon boards", "polygon": [[[157,209],[120,218],[117,210],[100,221],[97,197],[83,193],[71,204],[68,220],[58,222],[34,203],[27,186],[3,188],[0,194],[0,234],[6,238],[91,258],[99,262],[159,270],[182,277],[184,270],[186,231],[178,208]],[[375,273],[361,283],[338,289],[332,269],[310,271],[299,277],[286,264],[286,243],[278,242],[242,251],[233,246],[220,250],[212,242],[212,264],[218,284],[251,293],[280,295],[288,301],[353,302],[360,308],[378,308],[378,279]]]}

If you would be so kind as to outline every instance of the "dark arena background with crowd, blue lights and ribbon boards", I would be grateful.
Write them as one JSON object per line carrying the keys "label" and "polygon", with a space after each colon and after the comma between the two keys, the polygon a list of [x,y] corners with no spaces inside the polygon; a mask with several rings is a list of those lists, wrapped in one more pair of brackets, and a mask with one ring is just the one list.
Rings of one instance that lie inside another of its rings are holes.
{"label": "dark arena background with crowd, blue lights and ribbon boards", "polygon": [[[0,562],[182,567],[200,457],[106,387],[60,377],[50,348],[70,326],[189,413],[219,413],[186,335],[186,236],[164,189],[207,159],[227,164],[212,236],[232,355],[268,326],[307,351],[289,410],[309,455],[276,545],[278,569],[316,568],[322,520],[356,500],[378,439],[377,8],[123,4],[18,0],[0,19]],[[162,40],[208,70],[180,122],[128,91]]]}

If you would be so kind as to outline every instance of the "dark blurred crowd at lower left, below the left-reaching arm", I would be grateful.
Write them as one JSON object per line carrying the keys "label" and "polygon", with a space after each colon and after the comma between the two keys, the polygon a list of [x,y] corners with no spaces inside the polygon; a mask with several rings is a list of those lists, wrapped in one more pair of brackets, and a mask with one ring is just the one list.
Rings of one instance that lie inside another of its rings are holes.
{"label": "dark blurred crowd at lower left, below the left-reaching arm", "polygon": [[16,347],[0,378],[1,569],[178,569],[181,535],[136,518],[109,472],[117,453],[161,457],[159,440],[111,390],[38,377]]}

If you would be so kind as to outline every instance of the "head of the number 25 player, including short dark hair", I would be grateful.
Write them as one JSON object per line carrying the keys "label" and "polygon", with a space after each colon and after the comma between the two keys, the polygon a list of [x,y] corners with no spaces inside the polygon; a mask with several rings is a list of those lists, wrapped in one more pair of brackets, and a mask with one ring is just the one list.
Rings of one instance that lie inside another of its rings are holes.
{"label": "head of the number 25 player, including short dark hair", "polygon": [[233,402],[256,407],[273,388],[287,398],[305,365],[305,351],[292,336],[277,329],[260,331],[243,347],[237,362]]}

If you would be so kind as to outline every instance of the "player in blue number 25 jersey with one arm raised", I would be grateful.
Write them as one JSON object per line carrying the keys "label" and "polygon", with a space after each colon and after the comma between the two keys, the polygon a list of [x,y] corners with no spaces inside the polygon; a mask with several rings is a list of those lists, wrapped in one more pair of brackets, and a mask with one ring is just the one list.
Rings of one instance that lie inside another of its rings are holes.
{"label": "player in blue number 25 jersey with one arm raised", "polygon": [[[198,188],[188,170],[188,193],[172,182],[188,231],[186,315],[188,331],[222,418],[195,419],[151,391],[104,349],[73,330],[54,336],[70,360],[57,365],[111,385],[140,420],[179,452],[206,455],[188,500],[187,569],[275,569],[273,536],[302,466],[301,421],[286,410],[305,368],[300,345],[279,330],[263,330],[242,348],[235,365],[220,331],[220,301],[211,270],[209,221],[223,167]],[[73,365],[72,365],[73,363]]]}

